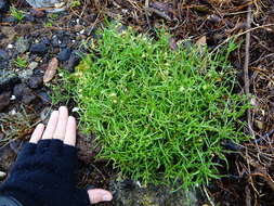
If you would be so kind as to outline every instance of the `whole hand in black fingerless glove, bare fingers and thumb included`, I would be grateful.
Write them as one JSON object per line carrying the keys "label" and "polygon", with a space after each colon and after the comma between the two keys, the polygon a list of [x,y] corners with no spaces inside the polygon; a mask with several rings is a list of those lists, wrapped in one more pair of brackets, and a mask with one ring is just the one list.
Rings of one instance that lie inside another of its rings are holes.
{"label": "whole hand in black fingerless glove, bare fingers and thumb included", "polygon": [[51,114],[47,128],[39,124],[18,154],[1,194],[24,206],[88,206],[112,201],[102,189],[77,189],[76,120],[65,106]]}

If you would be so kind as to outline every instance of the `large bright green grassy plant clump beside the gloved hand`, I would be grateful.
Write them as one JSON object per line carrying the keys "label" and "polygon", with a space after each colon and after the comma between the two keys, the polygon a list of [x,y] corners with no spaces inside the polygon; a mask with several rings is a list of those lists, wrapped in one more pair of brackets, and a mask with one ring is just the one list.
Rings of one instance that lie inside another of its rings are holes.
{"label": "large bright green grassy plant clump beside the gloved hand", "polygon": [[246,138],[238,118],[247,104],[233,92],[227,63],[235,44],[214,55],[184,43],[171,51],[162,31],[154,41],[117,30],[103,31],[62,87],[80,107],[81,129],[96,134],[97,158],[144,183],[188,188],[219,178],[221,142]]}

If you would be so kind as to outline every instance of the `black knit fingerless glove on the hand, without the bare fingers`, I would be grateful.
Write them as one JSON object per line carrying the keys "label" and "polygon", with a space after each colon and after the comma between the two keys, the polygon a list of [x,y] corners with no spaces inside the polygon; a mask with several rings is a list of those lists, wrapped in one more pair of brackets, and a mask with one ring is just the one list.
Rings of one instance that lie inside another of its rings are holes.
{"label": "black knit fingerless glove on the hand, without the bare fingers", "polygon": [[89,206],[86,190],[76,188],[77,151],[61,140],[27,143],[0,194],[24,206]]}

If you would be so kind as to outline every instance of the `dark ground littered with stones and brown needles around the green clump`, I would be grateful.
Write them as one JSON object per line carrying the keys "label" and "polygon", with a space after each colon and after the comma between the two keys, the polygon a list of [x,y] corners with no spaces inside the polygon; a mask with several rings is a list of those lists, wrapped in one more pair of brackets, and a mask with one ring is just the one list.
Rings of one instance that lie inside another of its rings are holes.
{"label": "dark ground littered with stones and brown needles around the green clump", "polygon": [[[78,54],[89,52],[86,46],[99,38],[95,30],[104,25],[104,20],[119,20],[125,26],[153,36],[156,28],[165,27],[173,35],[171,49],[175,49],[179,40],[197,42],[204,38],[208,47],[217,51],[229,39],[237,37],[235,41],[239,48],[231,62],[238,70],[240,87],[237,92],[244,93],[247,11],[251,7],[248,79],[253,106],[250,127],[255,139],[243,145],[224,143],[226,149],[234,151],[227,156],[230,168],[220,168],[226,177],[211,182],[207,193],[220,205],[274,205],[272,0],[88,0],[57,14],[32,10],[26,2],[16,1],[13,5],[26,12],[22,22],[10,15],[5,2],[0,0],[0,170],[5,172],[34,126],[47,116],[44,108],[57,107],[52,105],[51,91],[42,80],[49,62],[57,57],[60,67],[74,72],[79,63]],[[18,57],[27,61],[26,67],[15,63]],[[68,106],[74,107],[73,104]],[[243,120],[247,121],[247,117]],[[104,162],[93,162],[99,150],[92,147],[94,138],[79,133],[78,139],[79,184],[109,188],[109,179],[116,172]]]}

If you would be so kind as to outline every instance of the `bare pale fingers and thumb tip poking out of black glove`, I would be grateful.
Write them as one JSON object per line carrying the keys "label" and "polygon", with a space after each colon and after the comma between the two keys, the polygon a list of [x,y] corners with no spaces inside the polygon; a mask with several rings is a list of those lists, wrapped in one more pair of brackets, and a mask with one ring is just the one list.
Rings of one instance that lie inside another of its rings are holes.
{"label": "bare pale fingers and thumb tip poking out of black glove", "polygon": [[[39,124],[29,142],[38,143],[41,139],[58,139],[62,140],[64,144],[75,146],[76,119],[73,116],[68,116],[67,107],[61,106],[58,111],[52,112],[47,127],[43,124]],[[91,189],[87,192],[91,204],[113,199],[112,193],[103,189]]]}

